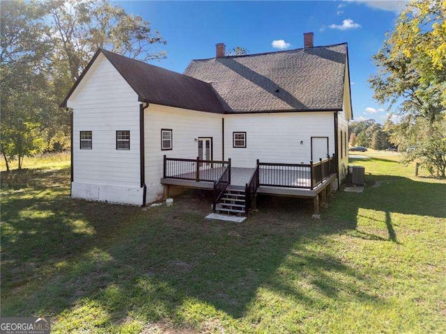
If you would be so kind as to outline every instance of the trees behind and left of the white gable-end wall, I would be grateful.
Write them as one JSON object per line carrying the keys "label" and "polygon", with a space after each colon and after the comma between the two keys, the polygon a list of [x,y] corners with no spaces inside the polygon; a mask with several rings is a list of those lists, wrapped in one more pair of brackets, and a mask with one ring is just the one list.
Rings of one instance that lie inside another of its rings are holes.
{"label": "trees behind and left of the white gable-end wall", "polygon": [[17,159],[66,150],[70,112],[59,107],[99,47],[151,61],[166,41],[150,22],[109,1],[0,3],[0,150]]}

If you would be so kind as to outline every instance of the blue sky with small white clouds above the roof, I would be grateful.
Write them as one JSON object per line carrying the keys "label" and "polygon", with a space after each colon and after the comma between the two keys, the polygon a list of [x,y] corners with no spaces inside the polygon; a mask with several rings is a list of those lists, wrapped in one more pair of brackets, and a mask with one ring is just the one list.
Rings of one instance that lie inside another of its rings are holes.
{"label": "blue sky with small white clouds above the roof", "polygon": [[[183,72],[191,59],[215,56],[215,44],[226,50],[242,46],[250,54],[303,46],[303,33],[314,32],[314,45],[348,42],[355,120],[383,122],[387,106],[373,99],[367,78],[376,72],[371,56],[391,31],[404,1],[123,1],[160,31],[167,58],[154,65]],[[272,43],[276,41],[273,47]]]}

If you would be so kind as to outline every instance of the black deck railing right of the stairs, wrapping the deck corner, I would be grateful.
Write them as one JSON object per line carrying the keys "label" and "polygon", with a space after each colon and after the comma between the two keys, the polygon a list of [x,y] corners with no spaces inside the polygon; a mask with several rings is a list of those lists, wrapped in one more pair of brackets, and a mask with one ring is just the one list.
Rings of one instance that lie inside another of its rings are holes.
{"label": "black deck railing right of the stairs, wrapping the deck corner", "polygon": [[259,185],[281,186],[286,188],[314,189],[323,180],[336,173],[334,154],[309,164],[277,164],[257,162]]}

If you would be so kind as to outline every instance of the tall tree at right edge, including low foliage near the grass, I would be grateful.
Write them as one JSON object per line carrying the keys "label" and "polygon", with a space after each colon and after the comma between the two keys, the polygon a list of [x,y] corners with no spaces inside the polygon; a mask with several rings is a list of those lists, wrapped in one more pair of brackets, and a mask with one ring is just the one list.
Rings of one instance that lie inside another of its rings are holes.
{"label": "tall tree at right edge, including low foliage near the grass", "polygon": [[[401,122],[388,124],[390,141],[444,175],[446,137],[446,2],[414,0],[374,56],[378,72],[369,78],[378,102],[398,104]],[[401,102],[401,103],[400,103]]]}

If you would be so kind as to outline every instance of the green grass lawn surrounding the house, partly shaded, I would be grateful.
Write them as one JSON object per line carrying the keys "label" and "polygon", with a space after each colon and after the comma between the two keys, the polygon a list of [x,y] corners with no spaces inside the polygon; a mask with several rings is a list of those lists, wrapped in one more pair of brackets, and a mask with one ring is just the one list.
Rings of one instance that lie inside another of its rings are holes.
{"label": "green grass lawn surrounding the house, partly shaded", "polygon": [[54,159],[1,175],[1,316],[51,316],[52,333],[446,332],[446,182],[398,154],[353,161],[367,188],[320,221],[263,197],[240,224],[205,221],[205,193],[72,200]]}

